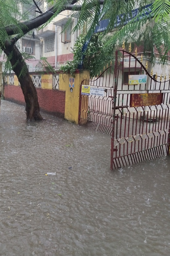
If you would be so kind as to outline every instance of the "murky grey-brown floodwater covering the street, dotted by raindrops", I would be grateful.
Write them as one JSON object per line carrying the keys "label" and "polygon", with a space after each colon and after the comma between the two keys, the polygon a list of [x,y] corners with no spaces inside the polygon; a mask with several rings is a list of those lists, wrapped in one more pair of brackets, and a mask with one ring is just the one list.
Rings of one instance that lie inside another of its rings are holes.
{"label": "murky grey-brown floodwater covering the street, dotted by raindrops", "polygon": [[42,115],[1,101],[0,255],[169,255],[170,158],[111,171],[111,137]]}

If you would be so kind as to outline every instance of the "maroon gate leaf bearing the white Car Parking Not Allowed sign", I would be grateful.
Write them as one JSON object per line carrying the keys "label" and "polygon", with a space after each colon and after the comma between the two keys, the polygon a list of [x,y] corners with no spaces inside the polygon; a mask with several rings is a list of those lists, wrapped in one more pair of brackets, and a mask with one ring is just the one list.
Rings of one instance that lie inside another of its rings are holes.
{"label": "maroon gate leaf bearing the white Car Parking Not Allowed sign", "polygon": [[[81,82],[80,86],[80,104],[79,104],[79,125],[87,128],[112,134],[112,115],[113,115],[113,67],[104,67],[103,72],[94,78],[85,78]],[[81,88],[83,85],[90,85],[91,88],[97,92],[103,91],[103,95],[100,93],[90,94],[89,96],[81,95]],[[98,95],[97,95],[98,94]]]}

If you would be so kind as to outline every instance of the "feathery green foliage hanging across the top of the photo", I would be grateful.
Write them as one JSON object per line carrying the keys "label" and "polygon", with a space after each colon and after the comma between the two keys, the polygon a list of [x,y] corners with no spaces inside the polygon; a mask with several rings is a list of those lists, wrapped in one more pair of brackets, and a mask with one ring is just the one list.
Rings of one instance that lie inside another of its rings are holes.
{"label": "feathery green foliage hanging across the top of the photo", "polygon": [[[113,33],[107,45],[117,44],[119,46],[123,40],[137,42],[137,44],[142,42],[144,46],[150,46],[152,60],[154,60],[154,48],[152,47],[154,46],[160,54],[165,53],[161,55],[161,61],[163,63],[166,61],[166,55],[170,50],[169,0],[47,0],[47,2],[52,4],[52,7],[48,10],[48,13],[44,11],[44,14],[47,13],[45,19],[42,16],[41,20],[41,15],[37,14],[37,18],[41,22],[36,22],[36,18],[23,22],[28,17],[22,15],[21,5],[26,4],[31,9],[31,6],[34,5],[32,0],[0,0],[0,46],[3,48],[5,41],[10,40],[9,34],[19,34],[19,37],[21,37],[30,30],[29,24],[31,22],[33,23],[31,29],[42,24],[45,26],[59,13],[67,9],[71,10],[71,14],[65,24],[66,30],[71,22],[75,21],[76,17],[77,22],[72,26],[72,32],[80,29],[86,23],[87,39],[93,34],[101,19],[109,18],[110,22],[103,36],[110,31],[113,31]],[[152,13],[146,16],[142,7],[149,3],[152,3]],[[135,8],[139,9],[139,13],[133,18],[131,10]],[[115,28],[116,17],[120,14],[123,14],[123,16],[120,16],[120,25]],[[129,16],[131,21],[124,26],[124,21]],[[140,19],[141,16],[143,16],[142,19]],[[13,31],[9,33],[7,26],[12,28]]]}

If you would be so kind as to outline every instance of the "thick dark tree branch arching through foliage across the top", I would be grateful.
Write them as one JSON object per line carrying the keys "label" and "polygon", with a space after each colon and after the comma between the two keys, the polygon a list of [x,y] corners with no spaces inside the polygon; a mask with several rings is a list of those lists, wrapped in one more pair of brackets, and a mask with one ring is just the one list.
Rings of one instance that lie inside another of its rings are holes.
{"label": "thick dark tree branch arching through foliage across the top", "polygon": [[[100,5],[103,5],[104,3],[104,0],[100,0]],[[80,11],[82,5],[74,5],[74,3],[77,3],[77,0],[73,0],[72,1],[72,4],[70,5],[65,5],[64,8],[61,10],[62,11],[65,11],[65,10],[70,10],[72,11],[73,8],[75,8],[75,11]],[[23,26],[22,31],[23,33],[27,33],[28,31],[34,29],[34,28],[38,28],[39,26],[43,25],[44,23],[46,23],[56,12],[57,10],[54,8],[54,7],[51,7],[48,11],[40,14],[39,16],[31,19],[31,20],[28,20],[28,21],[25,21],[25,22],[22,22],[21,23],[21,26]],[[8,36],[12,36],[15,34],[15,31],[16,31],[17,27],[16,26],[6,26],[5,27],[5,30],[8,34]]]}

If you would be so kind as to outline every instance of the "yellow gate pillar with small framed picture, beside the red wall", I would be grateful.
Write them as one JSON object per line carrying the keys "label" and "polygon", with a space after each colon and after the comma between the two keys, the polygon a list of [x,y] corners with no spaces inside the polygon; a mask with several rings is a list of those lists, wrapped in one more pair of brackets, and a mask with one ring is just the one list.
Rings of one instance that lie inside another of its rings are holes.
{"label": "yellow gate pillar with small framed picture, beside the red wall", "polygon": [[69,87],[69,78],[73,78],[70,74],[60,75],[59,88],[61,90],[61,84],[64,88],[65,84],[65,119],[73,123],[78,124],[78,115],[79,115],[79,101],[80,101],[80,84],[82,79],[86,76],[90,76],[90,71],[83,70],[80,73],[75,74],[75,82],[73,92],[70,92]]}

